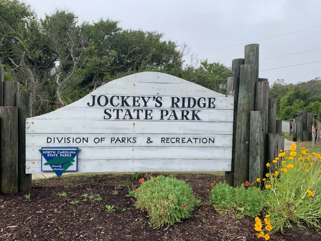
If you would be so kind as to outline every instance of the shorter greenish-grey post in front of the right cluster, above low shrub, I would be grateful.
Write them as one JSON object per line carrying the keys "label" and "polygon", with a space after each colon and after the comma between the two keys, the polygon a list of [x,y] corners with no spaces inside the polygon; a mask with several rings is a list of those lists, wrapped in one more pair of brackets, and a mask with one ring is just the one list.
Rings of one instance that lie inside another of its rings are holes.
{"label": "shorter greenish-grey post in front of the right cluster, above low shrub", "polygon": [[250,112],[249,182],[262,178],[265,160],[265,112]]}

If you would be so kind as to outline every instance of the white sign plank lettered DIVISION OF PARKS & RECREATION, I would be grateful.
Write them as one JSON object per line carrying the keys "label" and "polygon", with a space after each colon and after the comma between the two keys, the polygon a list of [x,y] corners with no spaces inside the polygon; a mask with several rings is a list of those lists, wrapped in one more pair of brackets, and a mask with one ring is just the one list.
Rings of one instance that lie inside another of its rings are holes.
{"label": "white sign plank lettered DIVISION OF PARKS & RECREATION", "polygon": [[[152,140],[150,144],[147,143],[148,137]],[[102,138],[104,139],[100,142]],[[26,134],[26,147],[55,145],[59,147],[232,147],[232,135]]]}

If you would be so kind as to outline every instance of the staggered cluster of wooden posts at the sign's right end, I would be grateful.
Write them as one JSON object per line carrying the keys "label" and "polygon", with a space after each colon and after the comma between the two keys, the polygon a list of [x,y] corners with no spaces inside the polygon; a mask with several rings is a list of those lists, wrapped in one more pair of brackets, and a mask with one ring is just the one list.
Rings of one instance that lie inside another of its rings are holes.
{"label": "staggered cluster of wooden posts at the sign's right end", "polygon": [[225,181],[240,186],[265,176],[266,163],[274,168],[277,164],[272,160],[284,149],[276,99],[269,98],[268,79],[259,78],[258,44],[246,45],[244,58],[232,60],[227,94],[234,95],[234,120],[232,165],[231,171],[225,172]]}

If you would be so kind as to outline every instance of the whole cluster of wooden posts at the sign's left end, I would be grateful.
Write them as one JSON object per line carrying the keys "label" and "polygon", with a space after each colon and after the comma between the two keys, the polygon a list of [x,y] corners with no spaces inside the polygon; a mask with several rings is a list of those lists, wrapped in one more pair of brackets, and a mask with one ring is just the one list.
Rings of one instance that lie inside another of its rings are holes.
{"label": "whole cluster of wooden posts at the sign's left end", "polygon": [[4,81],[0,66],[0,190],[4,193],[28,191],[31,174],[25,173],[25,123],[31,117],[29,93],[19,92],[19,83]]}

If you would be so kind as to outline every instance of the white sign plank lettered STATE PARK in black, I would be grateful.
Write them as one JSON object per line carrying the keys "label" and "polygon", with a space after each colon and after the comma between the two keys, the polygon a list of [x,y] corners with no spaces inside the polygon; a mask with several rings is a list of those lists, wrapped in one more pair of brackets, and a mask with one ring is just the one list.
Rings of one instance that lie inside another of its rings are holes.
{"label": "white sign plank lettered STATE PARK in black", "polygon": [[[113,111],[109,109],[108,113],[110,116],[104,112],[105,107],[100,108],[91,108],[91,107],[65,107],[61,111],[53,111],[45,115],[36,116],[28,118],[28,121],[33,120],[104,120],[108,121],[133,121],[130,119],[134,118],[134,121],[206,121],[206,122],[232,122],[233,121],[233,110],[214,110],[214,109],[202,109],[202,110],[163,110],[163,109],[153,109],[152,112],[149,110],[137,111],[137,109],[127,108],[130,114],[125,109],[121,111]],[[135,111],[134,111],[135,110]],[[176,116],[171,112],[174,111]],[[200,120],[197,120],[197,117],[194,116],[195,113]],[[163,115],[163,117],[162,117]],[[186,116],[182,116],[186,115]],[[136,119],[136,118],[140,119]],[[106,119],[104,119],[106,118]],[[107,118],[110,118],[107,120]],[[117,119],[119,118],[119,119]],[[125,118],[125,119],[124,119]],[[152,120],[145,120],[146,118],[152,118]],[[163,120],[161,120],[161,118]],[[175,120],[175,119],[178,120]],[[188,120],[187,120],[188,119]],[[193,120],[194,119],[194,120]]]}

